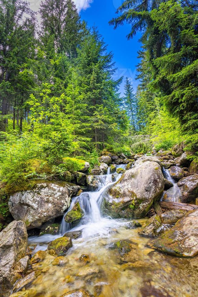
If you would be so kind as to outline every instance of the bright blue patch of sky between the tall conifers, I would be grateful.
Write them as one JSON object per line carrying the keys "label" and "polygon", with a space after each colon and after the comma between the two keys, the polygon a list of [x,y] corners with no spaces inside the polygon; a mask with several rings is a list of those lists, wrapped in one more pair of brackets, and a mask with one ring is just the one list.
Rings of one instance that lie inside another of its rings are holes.
{"label": "bright blue patch of sky between the tall conifers", "polygon": [[[76,1],[77,2],[77,1]],[[130,31],[130,25],[124,24],[114,30],[108,22],[115,17],[116,8],[121,5],[121,0],[93,0],[90,7],[86,10],[81,10],[81,18],[84,19],[88,26],[96,26],[100,34],[104,37],[104,41],[108,44],[108,51],[113,52],[114,62],[117,72],[114,78],[117,79],[124,75],[131,78],[131,82],[136,91],[138,81],[136,77],[136,65],[139,62],[137,59],[137,51],[141,44],[138,42],[140,34],[131,40],[127,40],[126,35]],[[121,95],[124,92],[124,82],[120,86]]]}

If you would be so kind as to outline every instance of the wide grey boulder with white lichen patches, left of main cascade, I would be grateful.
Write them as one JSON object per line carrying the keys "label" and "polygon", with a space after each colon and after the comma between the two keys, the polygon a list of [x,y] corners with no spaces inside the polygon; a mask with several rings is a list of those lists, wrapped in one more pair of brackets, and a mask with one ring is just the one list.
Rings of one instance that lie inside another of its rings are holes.
{"label": "wide grey boulder with white lichen patches, left of main cascade", "polygon": [[67,182],[43,182],[34,189],[16,192],[8,201],[9,210],[17,221],[25,222],[27,229],[40,227],[44,222],[64,214],[71,196],[80,187]]}

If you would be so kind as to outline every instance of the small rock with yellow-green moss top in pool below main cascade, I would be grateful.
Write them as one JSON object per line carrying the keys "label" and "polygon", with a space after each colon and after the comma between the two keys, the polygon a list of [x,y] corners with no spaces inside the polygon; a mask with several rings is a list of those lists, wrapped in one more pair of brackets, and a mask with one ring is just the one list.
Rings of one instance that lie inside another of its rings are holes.
{"label": "small rock with yellow-green moss top in pool below main cascade", "polygon": [[70,237],[60,237],[48,245],[48,252],[51,255],[64,256],[71,247],[72,241]]}

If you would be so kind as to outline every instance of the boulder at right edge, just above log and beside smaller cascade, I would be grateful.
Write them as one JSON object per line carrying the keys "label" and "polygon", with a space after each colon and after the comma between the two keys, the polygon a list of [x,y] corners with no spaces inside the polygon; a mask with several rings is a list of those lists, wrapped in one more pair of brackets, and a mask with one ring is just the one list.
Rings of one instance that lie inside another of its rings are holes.
{"label": "boulder at right edge, just above log and beside smaller cascade", "polygon": [[177,183],[177,185],[181,192],[181,202],[195,202],[198,197],[198,174],[184,177]]}

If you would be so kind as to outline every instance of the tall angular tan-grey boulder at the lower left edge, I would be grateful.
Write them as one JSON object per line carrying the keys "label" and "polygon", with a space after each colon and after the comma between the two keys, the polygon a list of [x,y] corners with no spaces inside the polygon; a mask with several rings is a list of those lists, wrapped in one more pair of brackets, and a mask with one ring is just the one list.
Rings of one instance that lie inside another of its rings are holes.
{"label": "tall angular tan-grey boulder at the lower left edge", "polygon": [[9,290],[21,278],[13,268],[25,257],[27,247],[28,234],[24,222],[13,221],[0,233],[0,288],[3,296],[9,295]]}

